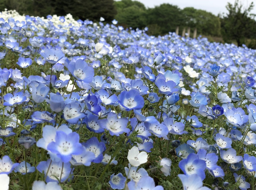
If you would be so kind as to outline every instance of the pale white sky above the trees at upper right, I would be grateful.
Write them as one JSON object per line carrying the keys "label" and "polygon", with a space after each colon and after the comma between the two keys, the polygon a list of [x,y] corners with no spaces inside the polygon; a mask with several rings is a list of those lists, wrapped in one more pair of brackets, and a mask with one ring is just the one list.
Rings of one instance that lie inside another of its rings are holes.
{"label": "pale white sky above the trees at upper right", "polygon": [[[118,1],[118,0],[117,0]],[[235,0],[137,0],[142,2],[146,8],[154,8],[163,3],[177,5],[179,8],[194,7],[218,15],[218,13],[227,13],[226,5],[228,2],[234,4]],[[251,13],[256,14],[256,0],[240,0],[244,7],[248,7],[254,1],[254,9]]]}

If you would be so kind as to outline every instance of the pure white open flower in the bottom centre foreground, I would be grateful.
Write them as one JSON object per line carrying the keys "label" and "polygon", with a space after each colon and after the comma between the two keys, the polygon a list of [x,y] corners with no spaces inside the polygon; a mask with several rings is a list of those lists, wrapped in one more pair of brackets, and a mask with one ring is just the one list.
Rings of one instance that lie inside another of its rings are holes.
{"label": "pure white open flower in the bottom centre foreground", "polygon": [[132,166],[139,166],[147,162],[147,153],[146,152],[139,152],[139,148],[133,146],[128,151],[127,159]]}

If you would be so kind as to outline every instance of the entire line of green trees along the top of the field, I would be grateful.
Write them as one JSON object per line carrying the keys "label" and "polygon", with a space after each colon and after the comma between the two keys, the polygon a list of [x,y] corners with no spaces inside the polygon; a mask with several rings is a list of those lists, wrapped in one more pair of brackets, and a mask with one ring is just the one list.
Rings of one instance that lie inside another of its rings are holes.
{"label": "entire line of green trees along the top of the field", "polygon": [[[239,0],[234,4],[228,3],[226,15],[214,14],[187,7],[180,9],[176,5],[163,3],[154,8],[146,8],[139,1],[132,0],[0,0],[0,11],[5,8],[15,9],[19,14],[44,16],[64,16],[68,13],[75,19],[99,21],[100,17],[105,23],[113,19],[124,28],[148,27],[149,35],[164,35],[180,28],[197,30],[198,35],[222,37],[224,42],[236,41],[238,46],[247,44],[256,48],[256,20],[250,14],[254,7],[253,2],[244,8]],[[250,39],[248,41],[248,39]]]}

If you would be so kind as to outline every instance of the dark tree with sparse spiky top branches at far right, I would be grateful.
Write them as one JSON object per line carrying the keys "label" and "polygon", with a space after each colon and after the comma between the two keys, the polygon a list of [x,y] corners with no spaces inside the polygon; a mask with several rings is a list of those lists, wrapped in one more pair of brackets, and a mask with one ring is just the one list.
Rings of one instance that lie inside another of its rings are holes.
{"label": "dark tree with sparse spiky top branches at far right", "polygon": [[243,8],[243,5],[236,0],[234,5],[228,3],[226,9],[228,13],[222,18],[222,37],[225,42],[236,40],[238,46],[245,43],[246,38],[252,38],[255,35],[255,20],[254,14],[250,14],[253,10],[254,4],[251,4],[247,8]]}

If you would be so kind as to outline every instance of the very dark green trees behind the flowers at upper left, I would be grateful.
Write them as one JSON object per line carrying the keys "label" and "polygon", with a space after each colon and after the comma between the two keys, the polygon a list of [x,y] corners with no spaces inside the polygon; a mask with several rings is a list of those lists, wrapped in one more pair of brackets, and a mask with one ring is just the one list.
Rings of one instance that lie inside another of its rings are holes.
{"label": "very dark green trees behind the flowers at upper left", "polygon": [[16,10],[20,14],[44,16],[70,13],[75,19],[112,21],[116,15],[114,0],[0,0],[0,11]]}

